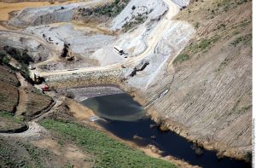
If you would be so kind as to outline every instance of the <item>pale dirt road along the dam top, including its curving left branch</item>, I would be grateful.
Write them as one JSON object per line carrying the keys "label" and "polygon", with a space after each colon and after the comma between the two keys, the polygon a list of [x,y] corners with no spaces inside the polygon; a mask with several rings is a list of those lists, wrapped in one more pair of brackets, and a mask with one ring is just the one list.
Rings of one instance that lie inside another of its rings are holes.
{"label": "pale dirt road along the dam top, including its curving left branch", "polygon": [[[178,11],[179,7],[177,6],[176,3],[173,3],[171,0],[163,0],[169,7],[166,15],[164,18],[162,18],[159,22],[159,24],[154,27],[154,30],[149,34],[148,36],[148,48],[141,54],[137,55],[136,57],[128,58],[127,61],[124,63],[115,63],[112,65],[108,65],[105,67],[83,67],[76,69],[74,71],[68,71],[67,69],[65,70],[56,70],[52,72],[40,72],[38,70],[34,70],[32,72],[38,72],[41,77],[47,77],[51,75],[61,75],[61,74],[72,74],[73,72],[79,73],[79,72],[96,72],[96,71],[108,71],[108,70],[113,70],[113,69],[120,69],[122,65],[125,67],[133,66],[137,64],[139,61],[142,61],[143,58],[145,58],[147,55],[149,55],[153,50],[154,47],[157,45],[157,43],[160,42],[160,39],[163,37],[163,35],[169,30],[169,27],[171,26],[170,20],[172,20],[172,17],[175,16]],[[47,61],[43,61],[38,63],[36,66],[43,65],[47,62],[50,61],[56,61],[59,58],[58,52],[56,52],[56,49],[54,46],[50,45],[47,43],[44,38],[37,37],[36,35],[28,34],[25,32],[14,32],[14,31],[1,31],[0,35],[4,34],[5,36],[15,36],[15,37],[20,37],[20,38],[31,38],[38,43],[44,44],[44,46],[49,49],[50,53],[50,58]],[[156,36],[157,34],[157,36]]]}

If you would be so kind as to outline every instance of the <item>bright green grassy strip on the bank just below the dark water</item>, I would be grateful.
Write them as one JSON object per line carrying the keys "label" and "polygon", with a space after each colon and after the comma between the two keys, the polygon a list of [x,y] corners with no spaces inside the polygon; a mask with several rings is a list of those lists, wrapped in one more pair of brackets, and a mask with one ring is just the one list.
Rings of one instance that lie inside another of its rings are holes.
{"label": "bright green grassy strip on the bank just below the dark water", "polygon": [[72,141],[84,151],[96,155],[95,167],[175,167],[165,160],[154,159],[141,151],[129,148],[88,126],[53,119],[46,119],[41,125],[61,134],[65,141]]}

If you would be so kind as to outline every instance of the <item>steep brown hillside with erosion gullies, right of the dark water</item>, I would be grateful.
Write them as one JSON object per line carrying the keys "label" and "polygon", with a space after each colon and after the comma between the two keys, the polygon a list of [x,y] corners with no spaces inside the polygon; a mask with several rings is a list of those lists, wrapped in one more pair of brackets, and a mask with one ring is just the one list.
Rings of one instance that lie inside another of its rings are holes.
{"label": "steep brown hillside with erosion gullies, right of the dark water", "polygon": [[[194,1],[177,20],[197,29],[171,67],[166,96],[149,112],[171,130],[220,155],[252,148],[252,1]],[[155,78],[165,85],[162,78]],[[150,99],[155,88],[145,91]]]}

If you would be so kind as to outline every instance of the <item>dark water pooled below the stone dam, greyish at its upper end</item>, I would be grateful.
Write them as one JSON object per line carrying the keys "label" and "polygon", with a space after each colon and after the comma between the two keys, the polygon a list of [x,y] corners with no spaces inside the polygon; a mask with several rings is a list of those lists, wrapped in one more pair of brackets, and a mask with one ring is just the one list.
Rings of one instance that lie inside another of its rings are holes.
{"label": "dark water pooled below the stone dam, greyish at its upper end", "polygon": [[172,131],[163,132],[154,121],[148,119],[143,107],[132,97],[122,93],[108,96],[97,96],[81,102],[104,120],[97,120],[106,130],[122,139],[136,142],[138,146],[154,145],[166,155],[183,159],[191,165],[209,168],[251,167],[244,161],[223,158],[218,159],[216,152],[200,148],[202,154],[195,154],[195,146],[182,136]]}

